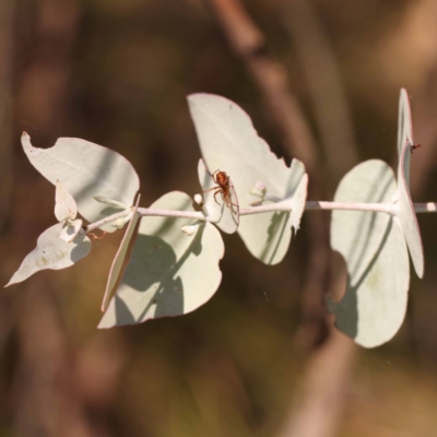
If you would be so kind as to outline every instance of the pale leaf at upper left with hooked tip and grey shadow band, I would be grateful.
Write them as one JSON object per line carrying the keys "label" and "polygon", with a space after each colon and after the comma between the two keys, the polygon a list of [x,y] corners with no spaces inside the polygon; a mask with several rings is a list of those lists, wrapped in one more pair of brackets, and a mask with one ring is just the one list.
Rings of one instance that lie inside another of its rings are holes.
{"label": "pale leaf at upper left with hooked tip and grey shadow band", "polygon": [[[51,184],[60,180],[88,222],[120,210],[96,202],[93,196],[133,203],[140,180],[132,164],[119,153],[78,138],[60,138],[52,147],[38,149],[23,133],[22,144],[32,165]],[[102,229],[116,231],[110,223]]]}

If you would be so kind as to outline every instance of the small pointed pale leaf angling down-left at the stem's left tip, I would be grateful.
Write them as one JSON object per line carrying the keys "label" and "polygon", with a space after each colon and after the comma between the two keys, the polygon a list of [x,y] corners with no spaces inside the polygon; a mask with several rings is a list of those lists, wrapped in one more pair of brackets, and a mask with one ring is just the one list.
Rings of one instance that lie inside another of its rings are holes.
{"label": "small pointed pale leaf angling down-left at the stem's left tip", "polygon": [[22,282],[40,270],[66,269],[88,255],[91,241],[85,234],[79,234],[73,241],[67,243],[60,238],[61,232],[61,223],[46,229],[5,286]]}

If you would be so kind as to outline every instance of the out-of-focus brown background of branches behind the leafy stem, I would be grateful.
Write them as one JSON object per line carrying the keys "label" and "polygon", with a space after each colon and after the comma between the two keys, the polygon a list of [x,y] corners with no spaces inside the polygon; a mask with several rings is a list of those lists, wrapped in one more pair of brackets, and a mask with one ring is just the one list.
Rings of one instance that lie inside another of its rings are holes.
{"label": "out-of-focus brown background of branches behind the leafy stem", "polygon": [[[40,147],[79,137],[120,152],[147,206],[199,191],[194,92],[244,107],[279,156],[307,164],[309,200],[331,200],[358,162],[395,162],[405,86],[423,145],[413,200],[437,200],[436,22],[434,0],[1,0],[1,283],[55,223],[22,131]],[[275,267],[224,235],[206,305],[104,331],[121,233],[95,241],[78,265],[0,294],[0,436],[437,435],[436,216],[418,220],[425,277],[412,273],[406,320],[376,350],[324,314],[323,294],[344,286],[329,214],[308,212]]]}

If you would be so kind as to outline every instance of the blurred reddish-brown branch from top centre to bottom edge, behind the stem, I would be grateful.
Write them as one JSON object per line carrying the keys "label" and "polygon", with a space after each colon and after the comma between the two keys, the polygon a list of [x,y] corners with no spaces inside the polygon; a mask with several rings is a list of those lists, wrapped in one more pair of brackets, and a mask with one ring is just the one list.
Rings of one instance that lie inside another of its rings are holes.
{"label": "blurred reddish-brown branch from top centre to bottom edge, behind the stem", "polygon": [[[304,161],[311,194],[321,200],[324,190],[315,140],[297,99],[291,93],[285,69],[268,55],[261,32],[238,0],[209,0],[208,4],[231,47],[258,86],[284,146],[292,155]],[[330,253],[326,218],[322,214],[311,214],[307,218],[310,255],[303,293],[304,324],[298,338],[312,346],[322,340],[322,327],[326,323],[322,297],[327,291]],[[344,388],[350,373],[346,370],[352,367],[354,352],[354,343],[336,332],[316,349],[308,362],[305,399],[297,415],[293,415],[284,436],[333,435],[344,408]],[[336,371],[339,368],[341,371]],[[332,393],[336,395],[332,397]],[[330,403],[330,409],[323,410],[326,402]],[[319,422],[320,425],[317,426]]]}

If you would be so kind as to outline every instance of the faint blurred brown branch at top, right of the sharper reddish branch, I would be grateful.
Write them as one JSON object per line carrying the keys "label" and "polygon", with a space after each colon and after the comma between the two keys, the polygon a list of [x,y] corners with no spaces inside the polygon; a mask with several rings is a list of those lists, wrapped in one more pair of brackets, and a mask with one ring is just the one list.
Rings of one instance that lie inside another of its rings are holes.
{"label": "faint blurred brown branch at top, right of the sharper reddish branch", "polygon": [[277,16],[295,42],[329,163],[329,179],[336,186],[358,163],[358,155],[335,56],[310,0],[280,0]]}

